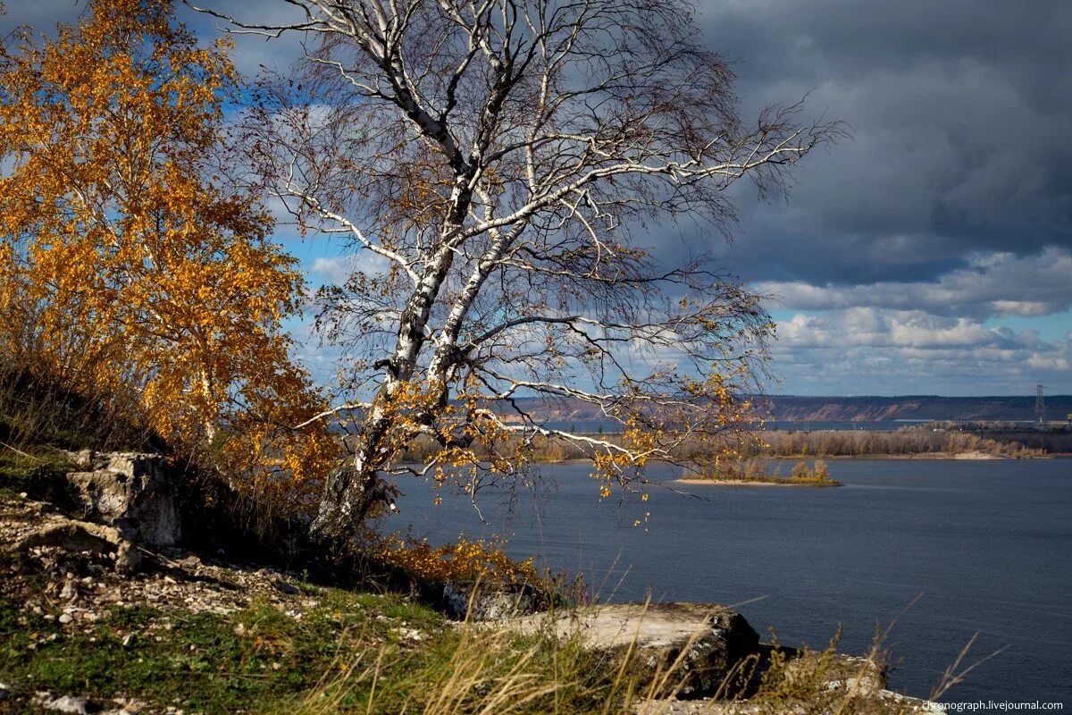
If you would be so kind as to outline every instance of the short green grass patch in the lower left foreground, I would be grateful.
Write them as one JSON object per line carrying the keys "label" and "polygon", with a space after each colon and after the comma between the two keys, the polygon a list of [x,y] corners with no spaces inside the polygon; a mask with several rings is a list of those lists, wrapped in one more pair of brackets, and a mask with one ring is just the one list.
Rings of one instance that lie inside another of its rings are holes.
{"label": "short green grass patch in the lower left foreground", "polygon": [[[56,626],[4,601],[0,680],[96,700],[134,696],[206,714],[262,713],[294,702],[363,647],[401,650],[392,629],[403,621],[422,630],[444,626],[434,612],[396,597],[332,591],[300,620],[266,605],[230,615],[118,608],[89,632],[48,640],[60,632]],[[128,635],[133,641],[123,647]]]}

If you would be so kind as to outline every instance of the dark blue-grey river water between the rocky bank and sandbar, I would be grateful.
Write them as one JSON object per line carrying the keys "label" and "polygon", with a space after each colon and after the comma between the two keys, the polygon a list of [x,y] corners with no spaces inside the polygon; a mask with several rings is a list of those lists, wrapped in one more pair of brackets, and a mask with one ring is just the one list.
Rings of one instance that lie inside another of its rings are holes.
{"label": "dark blue-grey river water between the rocky bank and sandbar", "polygon": [[[581,571],[604,600],[740,605],[789,644],[822,646],[840,623],[840,650],[863,653],[896,619],[891,686],[920,697],[978,632],[964,665],[1004,650],[943,700],[1072,704],[1072,461],[830,465],[844,487],[678,485],[700,498],[655,489],[620,505],[599,502],[589,466],[555,464],[535,498],[488,494],[487,523],[412,486],[392,525],[437,542],[505,536],[511,555]],[[646,528],[632,526],[645,509]]]}

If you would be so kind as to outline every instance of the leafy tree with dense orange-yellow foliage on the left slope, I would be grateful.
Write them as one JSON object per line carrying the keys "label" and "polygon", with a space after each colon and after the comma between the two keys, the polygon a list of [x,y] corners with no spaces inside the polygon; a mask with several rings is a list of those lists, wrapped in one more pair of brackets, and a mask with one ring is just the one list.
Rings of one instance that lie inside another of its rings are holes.
{"label": "leafy tree with dense orange-yellow foliage on the left slope", "polygon": [[172,3],[93,0],[55,39],[0,49],[0,340],[74,389],[135,397],[173,444],[264,486],[338,446],[282,322],[296,262],[208,158],[238,78]]}

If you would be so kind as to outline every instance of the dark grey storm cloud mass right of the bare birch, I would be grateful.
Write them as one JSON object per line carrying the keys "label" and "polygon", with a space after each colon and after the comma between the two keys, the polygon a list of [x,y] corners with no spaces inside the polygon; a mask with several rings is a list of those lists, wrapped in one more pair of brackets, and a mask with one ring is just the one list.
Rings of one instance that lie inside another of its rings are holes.
{"label": "dark grey storm cloud mass right of the bare birch", "polygon": [[745,278],[934,280],[1072,244],[1072,3],[708,1],[699,21],[746,117],[810,92],[855,136],[788,204],[742,194],[740,240],[708,248]]}

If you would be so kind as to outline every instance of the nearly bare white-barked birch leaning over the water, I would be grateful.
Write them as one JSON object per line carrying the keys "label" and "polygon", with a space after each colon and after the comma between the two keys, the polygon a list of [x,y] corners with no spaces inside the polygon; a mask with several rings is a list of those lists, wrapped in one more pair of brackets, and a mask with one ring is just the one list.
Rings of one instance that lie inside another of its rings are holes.
{"label": "nearly bare white-barked birch leaning over the water", "polygon": [[[382,267],[321,295],[326,336],[358,359],[337,408],[356,420],[353,464],[318,528],[355,528],[389,475],[475,497],[540,435],[583,447],[609,495],[643,491],[644,466],[683,443],[749,428],[773,329],[759,297],[644,239],[725,233],[729,187],[777,191],[836,123],[799,123],[799,106],[743,121],[682,0],[280,4],[293,23],[205,9],[233,32],[303,38],[244,121],[254,175],[303,229]],[[593,405],[622,434],[552,428],[524,397]],[[438,451],[400,464],[418,438]]]}

